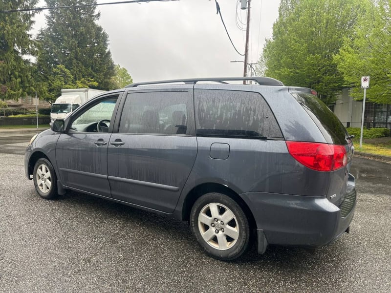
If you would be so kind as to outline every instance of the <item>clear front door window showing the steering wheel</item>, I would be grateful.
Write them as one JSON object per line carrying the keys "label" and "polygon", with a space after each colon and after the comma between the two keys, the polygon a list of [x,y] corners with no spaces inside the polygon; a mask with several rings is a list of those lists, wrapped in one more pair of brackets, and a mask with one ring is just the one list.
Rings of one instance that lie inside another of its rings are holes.
{"label": "clear front door window showing the steering wheel", "polygon": [[108,132],[117,99],[118,96],[109,97],[89,107],[72,122],[70,129],[81,132]]}

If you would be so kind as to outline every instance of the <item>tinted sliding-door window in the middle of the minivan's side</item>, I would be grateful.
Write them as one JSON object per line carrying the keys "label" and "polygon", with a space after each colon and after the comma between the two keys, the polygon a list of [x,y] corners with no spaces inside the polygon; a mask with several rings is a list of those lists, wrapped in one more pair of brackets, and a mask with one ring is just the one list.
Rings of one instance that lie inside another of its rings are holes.
{"label": "tinted sliding-door window in the middle of the minivan's side", "polygon": [[188,92],[129,93],[119,132],[186,134],[189,121]]}

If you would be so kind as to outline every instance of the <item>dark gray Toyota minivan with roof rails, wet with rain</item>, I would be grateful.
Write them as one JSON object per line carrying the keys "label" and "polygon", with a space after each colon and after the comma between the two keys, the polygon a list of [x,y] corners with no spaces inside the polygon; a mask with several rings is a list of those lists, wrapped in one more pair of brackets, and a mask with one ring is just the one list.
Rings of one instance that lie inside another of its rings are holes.
{"label": "dark gray Toyota minivan with roof rails, wet with rain", "polygon": [[207,254],[233,260],[254,240],[263,253],[348,232],[352,156],[316,92],[252,77],[100,94],[33,137],[24,163],[43,198],[70,189],[188,220]]}

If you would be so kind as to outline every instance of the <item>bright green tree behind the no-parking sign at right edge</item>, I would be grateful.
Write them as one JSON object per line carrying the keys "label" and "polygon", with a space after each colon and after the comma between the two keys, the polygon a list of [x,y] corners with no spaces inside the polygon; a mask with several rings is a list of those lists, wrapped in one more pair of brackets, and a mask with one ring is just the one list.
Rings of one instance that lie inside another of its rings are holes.
{"label": "bright green tree behind the no-parking sign at right edge", "polygon": [[335,61],[350,95],[363,98],[361,77],[370,76],[369,101],[391,104],[391,1],[368,3],[366,13],[359,16],[352,39],[345,39]]}

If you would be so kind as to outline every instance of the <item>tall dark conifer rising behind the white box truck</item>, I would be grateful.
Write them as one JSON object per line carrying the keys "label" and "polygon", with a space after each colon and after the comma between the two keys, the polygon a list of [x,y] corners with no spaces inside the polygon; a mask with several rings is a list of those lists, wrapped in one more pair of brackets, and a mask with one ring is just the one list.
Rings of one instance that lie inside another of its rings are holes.
{"label": "tall dark conifer rising behind the white box truck", "polygon": [[[94,4],[96,0],[45,0],[47,6]],[[95,6],[50,10],[46,27],[39,33],[42,46],[37,63],[48,81],[56,65],[64,65],[76,81],[95,84],[94,88],[108,90],[114,87],[114,63],[108,49],[109,38],[96,24],[100,13]],[[92,83],[91,83],[92,82]]]}

